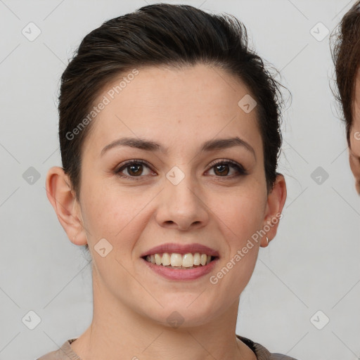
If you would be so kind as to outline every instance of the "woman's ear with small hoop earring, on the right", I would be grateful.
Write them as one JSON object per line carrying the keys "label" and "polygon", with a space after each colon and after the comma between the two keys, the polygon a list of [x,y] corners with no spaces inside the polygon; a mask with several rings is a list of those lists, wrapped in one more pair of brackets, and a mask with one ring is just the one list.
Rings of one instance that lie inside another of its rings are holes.
{"label": "woman's ear with small hoop earring, on the right", "polygon": [[264,226],[263,229],[266,231],[266,235],[262,237],[260,246],[266,248],[269,245],[266,240],[269,238],[269,241],[276,236],[276,231],[278,231],[278,223],[283,217],[281,212],[286,200],[286,183],[283,175],[278,174],[276,176],[274,188],[267,197],[265,217],[264,217]]}

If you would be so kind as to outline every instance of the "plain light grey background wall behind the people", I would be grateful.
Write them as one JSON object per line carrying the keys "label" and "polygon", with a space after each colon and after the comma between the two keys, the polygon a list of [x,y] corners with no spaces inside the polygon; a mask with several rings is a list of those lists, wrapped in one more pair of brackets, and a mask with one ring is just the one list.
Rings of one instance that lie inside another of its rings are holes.
{"label": "plain light grey background wall behind the people", "polygon": [[[297,359],[360,359],[360,199],[329,86],[329,36],[318,41],[310,32],[319,22],[331,32],[353,2],[174,1],[236,15],[293,94],[280,166],[288,200],[278,236],[260,250],[241,297],[237,333]],[[91,322],[91,266],[44,189],[47,170],[60,165],[58,84],[85,34],[154,3],[0,0],[1,360],[36,359]],[[22,34],[30,22],[41,30],[34,41]],[[29,167],[40,176],[33,184],[23,177]],[[322,184],[311,178],[318,167],[328,173]],[[41,319],[34,330],[22,320],[31,310]],[[330,322],[319,330],[325,316]]]}

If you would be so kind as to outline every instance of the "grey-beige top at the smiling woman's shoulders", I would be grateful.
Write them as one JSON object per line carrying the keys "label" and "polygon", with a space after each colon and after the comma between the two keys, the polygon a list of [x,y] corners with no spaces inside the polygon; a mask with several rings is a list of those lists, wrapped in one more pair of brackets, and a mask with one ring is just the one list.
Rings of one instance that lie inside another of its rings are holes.
{"label": "grey-beige top at the smiling woman's shoulders", "polygon": [[[240,335],[236,335],[242,342],[244,342],[257,356],[257,360],[296,360],[293,357],[282,355],[282,354],[271,354],[269,350],[263,347],[257,342],[252,342],[252,340],[243,338]],[[82,360],[80,357],[72,351],[70,344],[75,341],[75,339],[70,339],[66,341],[60,349],[49,352],[44,356],[41,356],[37,360]]]}

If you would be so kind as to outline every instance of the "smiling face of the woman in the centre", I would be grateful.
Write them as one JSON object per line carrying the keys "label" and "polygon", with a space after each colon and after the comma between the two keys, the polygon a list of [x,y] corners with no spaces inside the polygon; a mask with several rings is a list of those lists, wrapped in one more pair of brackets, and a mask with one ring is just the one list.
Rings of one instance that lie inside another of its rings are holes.
{"label": "smiling face of the woman in the centre", "polygon": [[[154,321],[176,310],[188,326],[205,323],[238,301],[260,242],[240,260],[239,251],[269,220],[256,111],[238,105],[248,89],[205,65],[139,69],[112,99],[117,84],[98,96],[110,102],[82,153],[79,211],[95,281]],[[202,254],[211,262],[191,268]]]}

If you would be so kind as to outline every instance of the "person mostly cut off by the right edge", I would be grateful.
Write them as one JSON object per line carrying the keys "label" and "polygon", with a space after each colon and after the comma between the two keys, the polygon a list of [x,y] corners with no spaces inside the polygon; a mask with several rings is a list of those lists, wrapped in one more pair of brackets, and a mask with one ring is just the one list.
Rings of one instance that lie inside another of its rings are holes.
{"label": "person mostly cut off by the right edge", "polygon": [[337,30],[332,49],[336,98],[344,114],[349,162],[360,195],[360,1],[344,15]]}

